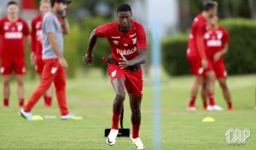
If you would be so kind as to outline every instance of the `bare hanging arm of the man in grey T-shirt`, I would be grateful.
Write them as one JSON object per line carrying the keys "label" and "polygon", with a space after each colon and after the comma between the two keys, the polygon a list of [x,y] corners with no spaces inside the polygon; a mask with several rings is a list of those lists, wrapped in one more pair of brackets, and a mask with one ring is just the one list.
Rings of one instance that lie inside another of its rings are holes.
{"label": "bare hanging arm of the man in grey T-shirt", "polygon": [[55,33],[54,32],[49,32],[47,34],[48,38],[49,38],[49,43],[51,44],[52,49],[55,52],[55,55],[58,56],[60,64],[62,67],[67,68],[67,61],[65,60],[64,56],[61,54],[61,49],[58,46],[57,41],[55,40]]}

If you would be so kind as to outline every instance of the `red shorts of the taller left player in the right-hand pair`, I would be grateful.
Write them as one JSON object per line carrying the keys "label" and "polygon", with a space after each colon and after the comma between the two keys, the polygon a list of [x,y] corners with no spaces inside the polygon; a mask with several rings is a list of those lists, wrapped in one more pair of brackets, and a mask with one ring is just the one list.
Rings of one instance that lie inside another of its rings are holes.
{"label": "red shorts of the taller left player in the right-hand pair", "polygon": [[191,68],[191,72],[195,76],[203,76],[206,72],[213,71],[212,62],[208,61],[208,67],[207,69],[204,69],[201,66],[201,58],[198,56],[190,56],[187,55],[187,59],[189,61],[189,66]]}

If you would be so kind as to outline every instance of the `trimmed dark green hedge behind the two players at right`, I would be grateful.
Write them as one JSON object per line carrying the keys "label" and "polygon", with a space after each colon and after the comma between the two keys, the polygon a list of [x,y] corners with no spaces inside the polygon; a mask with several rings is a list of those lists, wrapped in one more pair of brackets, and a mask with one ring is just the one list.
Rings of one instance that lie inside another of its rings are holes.
{"label": "trimmed dark green hedge behind the two players at right", "polygon": [[[220,24],[230,32],[230,49],[224,55],[229,74],[256,73],[256,21],[221,20]],[[186,59],[188,34],[166,38],[162,42],[163,67],[169,75],[190,73]]]}

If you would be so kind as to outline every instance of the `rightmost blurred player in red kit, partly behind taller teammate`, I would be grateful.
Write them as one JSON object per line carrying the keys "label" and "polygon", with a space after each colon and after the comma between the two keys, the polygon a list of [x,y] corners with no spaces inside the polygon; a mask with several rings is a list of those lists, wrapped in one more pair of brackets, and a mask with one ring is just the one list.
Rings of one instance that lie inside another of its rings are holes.
{"label": "rightmost blurred player in red kit, partly behind taller teammate", "polygon": [[[218,26],[218,16],[212,17],[209,21],[210,28],[205,34],[205,40],[207,45],[207,58],[212,62],[212,67],[218,78],[218,84],[220,85],[224,99],[227,102],[228,109],[233,108],[230,89],[226,84],[227,71],[224,65],[223,55],[229,50],[229,32],[222,26]],[[206,82],[203,83],[202,88],[202,100],[207,101],[207,89]],[[209,107],[208,107],[209,108]],[[209,108],[211,110],[211,107]]]}

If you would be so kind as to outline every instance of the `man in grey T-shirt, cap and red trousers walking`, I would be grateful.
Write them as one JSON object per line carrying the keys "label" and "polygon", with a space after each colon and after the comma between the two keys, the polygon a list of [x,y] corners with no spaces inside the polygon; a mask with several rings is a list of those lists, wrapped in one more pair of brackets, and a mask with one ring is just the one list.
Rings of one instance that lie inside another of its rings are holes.
{"label": "man in grey T-shirt, cap and red trousers walking", "polygon": [[69,25],[65,15],[62,15],[63,27],[57,19],[58,14],[65,14],[69,0],[51,0],[51,11],[44,14],[42,32],[43,32],[43,60],[44,69],[42,72],[41,83],[32,93],[26,103],[26,106],[20,109],[23,118],[33,120],[32,107],[44,95],[49,86],[54,83],[57,95],[58,105],[61,110],[61,119],[82,119],[68,113],[66,100],[66,69],[67,61],[63,57],[63,34],[68,34]]}

